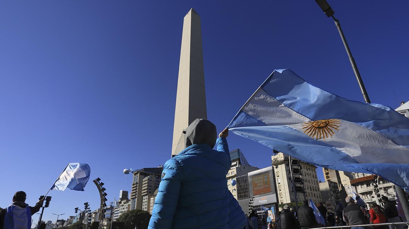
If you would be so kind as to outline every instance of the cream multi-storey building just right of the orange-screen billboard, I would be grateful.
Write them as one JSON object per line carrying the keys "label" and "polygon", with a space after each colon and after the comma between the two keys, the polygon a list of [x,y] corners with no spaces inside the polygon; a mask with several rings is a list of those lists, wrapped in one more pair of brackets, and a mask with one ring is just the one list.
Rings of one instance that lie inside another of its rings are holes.
{"label": "cream multi-storey building just right of the orange-screen billboard", "polygon": [[[274,153],[271,156],[274,174],[276,176],[276,187],[278,191],[278,203],[282,207],[284,204],[295,203],[292,189],[292,181],[290,176],[290,162],[288,156],[281,152]],[[297,159],[293,160],[298,161]],[[319,183],[317,178],[317,167],[308,163],[298,161],[299,174],[294,174],[294,177],[303,180],[303,188],[307,199],[317,204],[322,201],[321,191],[319,190]],[[294,165],[294,163],[292,162]],[[299,184],[297,184],[299,185]],[[297,193],[297,202],[304,200],[303,193]]]}

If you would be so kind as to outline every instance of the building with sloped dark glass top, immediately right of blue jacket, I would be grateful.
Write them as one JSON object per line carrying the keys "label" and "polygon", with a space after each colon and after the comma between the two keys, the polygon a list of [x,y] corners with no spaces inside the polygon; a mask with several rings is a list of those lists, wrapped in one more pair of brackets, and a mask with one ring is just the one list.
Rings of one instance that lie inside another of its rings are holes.
{"label": "building with sloped dark glass top, immediately right of blue jacket", "polygon": [[[246,176],[247,173],[258,170],[257,167],[249,165],[247,159],[245,158],[243,152],[241,150],[236,149],[230,152],[230,160],[231,166],[229,172],[227,172],[227,188],[233,194],[234,198],[238,200],[238,186],[232,185],[231,181],[235,180],[237,184],[237,177],[239,176]],[[244,189],[243,189],[244,191]],[[248,192],[248,189],[247,189]]]}

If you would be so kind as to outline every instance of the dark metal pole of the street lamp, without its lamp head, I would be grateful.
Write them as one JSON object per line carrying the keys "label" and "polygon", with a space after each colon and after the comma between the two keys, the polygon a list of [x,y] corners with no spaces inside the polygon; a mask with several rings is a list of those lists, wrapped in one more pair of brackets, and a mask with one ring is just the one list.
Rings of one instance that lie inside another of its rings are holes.
{"label": "dark metal pole of the street lamp, without its lamp head", "polygon": [[[368,92],[366,92],[366,89],[365,89],[365,86],[364,86],[364,81],[362,81],[361,74],[359,73],[357,64],[355,63],[355,59],[352,56],[351,50],[349,49],[349,46],[348,46],[348,43],[346,43],[344,33],[342,32],[342,29],[341,29],[341,24],[339,23],[339,20],[334,17],[334,15],[331,15],[331,16],[334,19],[335,26],[338,29],[339,36],[341,36],[341,40],[342,40],[342,43],[344,44],[345,51],[348,54],[349,62],[351,62],[352,69],[354,71],[355,77],[357,78],[358,85],[359,85],[361,93],[362,93],[362,97],[364,97],[364,100],[365,100],[366,103],[371,103],[371,100],[369,99]],[[401,201],[402,209],[403,209],[403,212],[405,213],[405,217],[406,217],[407,220],[409,220],[409,202],[408,202],[408,198],[407,198],[407,195],[405,193],[405,190],[403,190],[398,185],[395,185],[395,189],[397,191],[396,193],[398,194],[399,200]]]}

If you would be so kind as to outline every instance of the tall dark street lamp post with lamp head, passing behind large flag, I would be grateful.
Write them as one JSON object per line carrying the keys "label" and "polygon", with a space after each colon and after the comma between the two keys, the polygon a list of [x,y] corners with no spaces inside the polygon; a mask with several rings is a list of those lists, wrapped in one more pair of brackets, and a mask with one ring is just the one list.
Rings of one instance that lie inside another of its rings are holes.
{"label": "tall dark street lamp post with lamp head, passing behind large flag", "polygon": [[[335,13],[334,10],[326,2],[326,0],[315,0],[315,2],[317,2],[319,7],[322,9],[322,11],[324,11],[325,15],[327,15],[328,18],[332,17],[334,19],[335,26],[337,26],[339,35],[341,36],[342,43],[344,44],[344,47],[345,47],[345,51],[348,54],[349,62],[351,62],[352,69],[354,71],[355,77],[357,78],[359,87],[361,89],[362,97],[364,97],[364,100],[366,103],[370,103],[371,100],[369,100],[368,93],[366,92],[364,82],[362,81],[358,67],[355,63],[355,59],[352,57],[352,53],[351,53],[351,50],[349,49],[348,43],[346,43],[344,33],[342,32],[342,29],[341,29],[341,24],[339,24],[339,20],[334,17],[334,13]],[[395,189],[399,197],[399,201],[402,204],[402,209],[403,209],[403,212],[405,213],[406,219],[409,220],[409,202],[408,202],[408,198],[405,193],[405,190],[403,190],[401,187],[397,185],[395,185]]]}

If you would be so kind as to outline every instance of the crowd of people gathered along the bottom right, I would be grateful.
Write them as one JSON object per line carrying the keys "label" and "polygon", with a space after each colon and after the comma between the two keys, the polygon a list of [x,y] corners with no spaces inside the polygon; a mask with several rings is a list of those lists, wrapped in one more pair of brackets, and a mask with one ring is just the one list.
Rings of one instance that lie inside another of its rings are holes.
{"label": "crowd of people gathered along the bottom right", "polygon": [[[366,204],[360,196],[355,200],[351,196],[345,199],[347,205],[337,201],[335,212],[328,211],[323,203],[318,204],[318,210],[325,220],[325,224],[317,222],[312,207],[308,206],[308,201],[304,200],[303,205],[297,211],[292,211],[288,205],[277,213],[276,220],[267,223],[265,219],[260,219],[253,210],[248,216],[248,226],[246,229],[309,229],[317,227],[334,227],[344,225],[367,225],[385,222],[401,222],[395,203],[386,196],[382,196],[384,207],[382,208],[374,202]],[[367,227],[351,227],[352,229],[366,229]],[[375,229],[403,229],[402,226],[378,225]]]}

